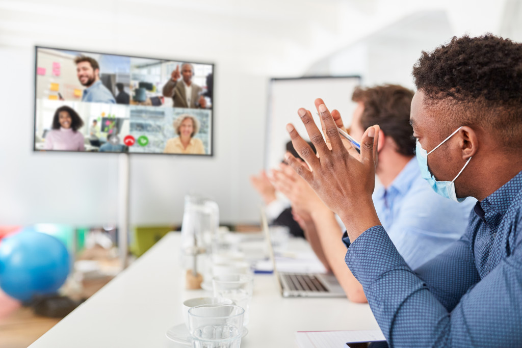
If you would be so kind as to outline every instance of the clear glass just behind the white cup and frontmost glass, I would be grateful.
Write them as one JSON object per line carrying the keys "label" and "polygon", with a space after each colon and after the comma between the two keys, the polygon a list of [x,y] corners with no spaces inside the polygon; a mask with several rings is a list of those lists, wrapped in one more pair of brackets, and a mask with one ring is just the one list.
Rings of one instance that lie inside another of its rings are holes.
{"label": "clear glass just behind the white cup and frontmost glass", "polygon": [[244,308],[244,325],[248,324],[248,315],[254,277],[252,274],[222,274],[212,278],[212,287],[215,297],[230,298],[234,304]]}

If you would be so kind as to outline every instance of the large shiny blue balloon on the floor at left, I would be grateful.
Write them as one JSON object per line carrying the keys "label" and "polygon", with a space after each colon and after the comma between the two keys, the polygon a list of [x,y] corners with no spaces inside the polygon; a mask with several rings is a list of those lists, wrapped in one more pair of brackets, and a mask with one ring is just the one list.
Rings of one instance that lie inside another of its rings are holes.
{"label": "large shiny blue balloon on the floor at left", "polygon": [[48,234],[23,231],[0,243],[0,287],[20,301],[55,293],[69,270],[67,248]]}

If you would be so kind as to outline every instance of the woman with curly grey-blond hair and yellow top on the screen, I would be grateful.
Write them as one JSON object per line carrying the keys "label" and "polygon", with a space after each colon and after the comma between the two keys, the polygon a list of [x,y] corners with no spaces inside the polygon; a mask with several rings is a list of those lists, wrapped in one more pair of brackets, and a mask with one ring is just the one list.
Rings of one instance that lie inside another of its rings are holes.
{"label": "woman with curly grey-blond hair and yellow top on the screen", "polygon": [[205,154],[203,141],[193,138],[199,132],[199,121],[196,117],[183,114],[174,120],[173,126],[179,137],[167,140],[163,153]]}

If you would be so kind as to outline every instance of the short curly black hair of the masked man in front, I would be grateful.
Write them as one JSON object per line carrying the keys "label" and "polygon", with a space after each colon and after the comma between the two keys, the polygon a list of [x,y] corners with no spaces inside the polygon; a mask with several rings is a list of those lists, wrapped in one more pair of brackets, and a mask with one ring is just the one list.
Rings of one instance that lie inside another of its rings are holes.
{"label": "short curly black hair of the masked man in front", "polygon": [[450,129],[479,126],[506,147],[522,146],[522,44],[487,33],[453,37],[413,67],[427,107]]}

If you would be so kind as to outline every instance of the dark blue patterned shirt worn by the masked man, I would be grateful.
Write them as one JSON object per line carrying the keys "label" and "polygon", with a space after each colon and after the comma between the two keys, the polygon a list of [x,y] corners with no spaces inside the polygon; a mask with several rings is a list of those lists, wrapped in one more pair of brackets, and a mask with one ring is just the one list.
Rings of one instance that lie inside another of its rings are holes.
{"label": "dark blue patterned shirt worn by the masked man", "polygon": [[390,346],[520,347],[521,243],[522,172],[477,202],[466,233],[415,271],[382,226],[355,239],[345,261]]}

